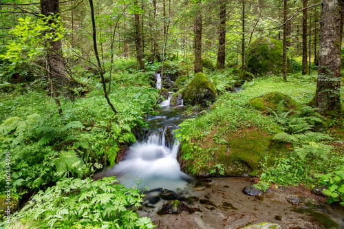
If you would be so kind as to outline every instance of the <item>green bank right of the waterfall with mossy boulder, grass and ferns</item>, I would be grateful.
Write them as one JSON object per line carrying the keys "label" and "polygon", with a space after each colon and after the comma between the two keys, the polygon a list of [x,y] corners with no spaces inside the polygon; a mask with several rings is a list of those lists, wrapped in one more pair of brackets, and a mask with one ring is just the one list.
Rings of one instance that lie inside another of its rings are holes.
{"label": "green bank right of the waterfall with mossy boulder, grass and ferns", "polygon": [[[326,182],[326,177],[321,179],[323,175],[343,169],[343,146],[338,146],[343,138],[326,132],[321,124],[323,117],[314,116],[316,110],[305,107],[314,96],[315,75],[295,74],[289,76],[288,82],[280,77],[259,78],[243,87],[238,94],[219,96],[204,116],[182,123],[179,160],[184,171],[194,175],[263,172],[264,182],[259,185],[264,189],[271,184],[315,186],[323,180]],[[252,98],[272,91],[288,94],[299,102],[305,107],[303,114],[296,116],[292,111],[274,115],[272,112],[266,116],[250,107]],[[339,121],[334,118],[326,125],[336,125],[336,122]],[[332,184],[336,183],[332,186],[336,199],[340,199],[343,189],[341,182],[332,179]]]}

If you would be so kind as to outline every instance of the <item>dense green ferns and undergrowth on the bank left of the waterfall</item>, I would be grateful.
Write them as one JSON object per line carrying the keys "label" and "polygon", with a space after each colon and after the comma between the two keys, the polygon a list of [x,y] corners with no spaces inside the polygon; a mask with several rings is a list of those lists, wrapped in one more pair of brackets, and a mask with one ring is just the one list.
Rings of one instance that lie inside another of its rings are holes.
{"label": "dense green ferns and undergrowth on the bank left of the waterfall", "polygon": [[151,107],[158,98],[158,90],[150,87],[150,73],[129,73],[124,69],[130,69],[130,63],[118,63],[114,69],[109,97],[117,114],[107,105],[96,76],[79,76],[89,94],[76,95],[74,101],[60,98],[63,116],[43,89],[29,85],[0,94],[0,192],[6,186],[5,153],[12,164],[13,192],[20,195],[66,175],[80,177],[78,168],[85,163],[115,164],[121,149],[135,142],[133,133],[146,126],[144,114],[154,112]]}

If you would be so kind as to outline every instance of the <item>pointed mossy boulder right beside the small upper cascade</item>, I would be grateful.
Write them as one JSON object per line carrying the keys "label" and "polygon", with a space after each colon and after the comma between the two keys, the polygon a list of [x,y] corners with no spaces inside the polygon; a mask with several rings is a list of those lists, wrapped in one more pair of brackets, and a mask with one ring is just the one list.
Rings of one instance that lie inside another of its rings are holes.
{"label": "pointed mossy boulder right beside the small upper cascade", "polygon": [[201,72],[197,73],[183,94],[184,105],[207,106],[207,102],[216,99],[215,85]]}

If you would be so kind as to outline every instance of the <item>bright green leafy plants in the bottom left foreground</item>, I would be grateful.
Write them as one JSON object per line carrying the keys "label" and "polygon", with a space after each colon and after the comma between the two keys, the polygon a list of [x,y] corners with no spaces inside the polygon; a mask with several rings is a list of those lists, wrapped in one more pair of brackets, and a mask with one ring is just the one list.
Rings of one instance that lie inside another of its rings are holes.
{"label": "bright green leafy plants in the bottom left foreground", "polygon": [[141,206],[140,191],[116,182],[115,177],[96,182],[65,178],[34,195],[12,217],[12,224],[25,221],[30,228],[154,228],[149,218],[134,212]]}

